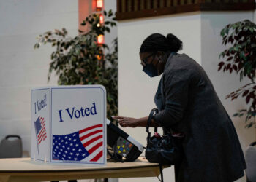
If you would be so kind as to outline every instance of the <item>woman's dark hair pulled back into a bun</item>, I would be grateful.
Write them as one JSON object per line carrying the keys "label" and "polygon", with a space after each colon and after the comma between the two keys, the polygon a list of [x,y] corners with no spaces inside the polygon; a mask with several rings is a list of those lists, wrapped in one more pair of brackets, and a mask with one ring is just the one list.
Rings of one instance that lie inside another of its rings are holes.
{"label": "woman's dark hair pulled back into a bun", "polygon": [[178,52],[179,50],[182,50],[182,41],[172,33],[168,33],[166,37],[160,33],[153,33],[140,46],[140,53],[157,51]]}

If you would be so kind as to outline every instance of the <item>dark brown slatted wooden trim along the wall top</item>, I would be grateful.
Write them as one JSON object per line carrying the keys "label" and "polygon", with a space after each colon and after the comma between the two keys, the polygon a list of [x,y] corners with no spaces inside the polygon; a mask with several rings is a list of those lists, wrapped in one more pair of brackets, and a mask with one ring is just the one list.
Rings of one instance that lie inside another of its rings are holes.
{"label": "dark brown slatted wooden trim along the wall top", "polygon": [[[138,0],[139,1],[139,0]],[[120,0],[117,0],[120,3]],[[116,12],[116,20],[129,20],[141,17],[156,17],[160,15],[173,15],[183,12],[196,12],[196,11],[252,11],[255,9],[255,1],[248,0],[246,3],[238,2],[238,3],[207,3],[205,0],[192,0],[192,4],[185,5],[173,5],[173,1],[171,1],[170,7],[162,7],[156,9],[147,9],[146,2],[143,1],[144,8],[138,11],[131,12]],[[153,4],[150,4],[153,6]],[[118,4],[120,7],[120,4]],[[119,8],[120,9],[120,8]],[[141,9],[141,7],[140,7]]]}

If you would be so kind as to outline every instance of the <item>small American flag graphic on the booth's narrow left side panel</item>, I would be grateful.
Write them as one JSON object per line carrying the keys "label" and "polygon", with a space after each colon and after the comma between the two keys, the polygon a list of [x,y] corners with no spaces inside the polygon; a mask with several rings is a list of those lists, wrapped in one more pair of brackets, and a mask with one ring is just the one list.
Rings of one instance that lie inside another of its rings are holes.
{"label": "small American flag graphic on the booth's narrow left side panel", "polygon": [[39,116],[36,122],[34,122],[34,126],[36,128],[37,143],[39,145],[42,141],[45,141],[45,138],[47,138],[45,130],[45,119]]}

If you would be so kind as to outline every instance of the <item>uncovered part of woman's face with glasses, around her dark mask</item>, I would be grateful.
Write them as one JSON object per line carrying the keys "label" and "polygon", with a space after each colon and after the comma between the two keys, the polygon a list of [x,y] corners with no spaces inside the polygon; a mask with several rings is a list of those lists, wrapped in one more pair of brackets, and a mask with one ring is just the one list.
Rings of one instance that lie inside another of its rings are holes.
{"label": "uncovered part of woman's face with glasses, around her dark mask", "polygon": [[152,64],[154,68],[157,68],[158,75],[162,74],[165,68],[165,60],[159,62],[159,58],[162,58],[161,52],[142,52],[140,53],[140,64],[144,67],[146,64]]}

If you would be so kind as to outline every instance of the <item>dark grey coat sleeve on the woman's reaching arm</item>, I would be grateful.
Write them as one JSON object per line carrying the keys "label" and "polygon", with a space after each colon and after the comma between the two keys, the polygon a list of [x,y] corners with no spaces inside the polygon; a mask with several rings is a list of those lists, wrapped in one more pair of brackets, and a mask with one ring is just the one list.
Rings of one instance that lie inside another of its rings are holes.
{"label": "dark grey coat sleeve on the woman's reaching arm", "polygon": [[181,121],[187,109],[190,71],[179,69],[171,74],[164,74],[165,108],[154,119],[162,127],[171,127]]}

